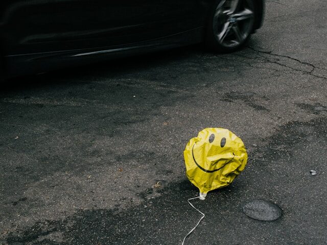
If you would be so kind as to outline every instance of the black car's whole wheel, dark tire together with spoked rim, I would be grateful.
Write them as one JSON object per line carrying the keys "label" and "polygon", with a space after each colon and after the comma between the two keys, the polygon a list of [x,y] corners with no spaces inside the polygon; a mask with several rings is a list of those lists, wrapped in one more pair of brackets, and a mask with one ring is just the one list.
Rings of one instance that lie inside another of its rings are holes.
{"label": "black car's whole wheel, dark tire together with spoked rim", "polygon": [[255,0],[216,0],[209,13],[206,45],[220,53],[239,50],[254,28]]}

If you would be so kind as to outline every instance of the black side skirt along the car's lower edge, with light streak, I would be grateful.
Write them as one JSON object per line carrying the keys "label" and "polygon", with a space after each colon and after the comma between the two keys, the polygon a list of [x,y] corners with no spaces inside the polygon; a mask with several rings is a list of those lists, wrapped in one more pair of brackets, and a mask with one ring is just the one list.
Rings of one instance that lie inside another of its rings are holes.
{"label": "black side skirt along the car's lower edge, with light streak", "polygon": [[145,54],[203,41],[203,27],[139,43],[58,52],[6,56],[6,77],[35,74],[131,55]]}

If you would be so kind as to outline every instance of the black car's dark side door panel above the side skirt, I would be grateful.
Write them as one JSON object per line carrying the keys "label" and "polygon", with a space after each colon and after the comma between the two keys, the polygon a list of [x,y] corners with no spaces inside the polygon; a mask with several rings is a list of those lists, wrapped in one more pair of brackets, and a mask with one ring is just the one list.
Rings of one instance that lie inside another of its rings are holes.
{"label": "black car's dark side door panel above the side skirt", "polygon": [[197,26],[199,0],[3,0],[5,55],[101,48]]}

